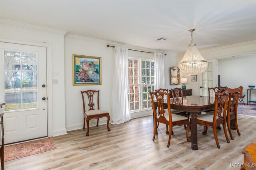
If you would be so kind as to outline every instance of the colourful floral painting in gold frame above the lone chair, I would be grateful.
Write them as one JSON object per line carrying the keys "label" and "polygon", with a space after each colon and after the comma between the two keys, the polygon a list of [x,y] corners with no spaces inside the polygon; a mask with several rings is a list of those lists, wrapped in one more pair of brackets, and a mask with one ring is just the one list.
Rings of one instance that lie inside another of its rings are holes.
{"label": "colourful floral painting in gold frame above the lone chair", "polygon": [[73,85],[101,85],[101,57],[73,54]]}

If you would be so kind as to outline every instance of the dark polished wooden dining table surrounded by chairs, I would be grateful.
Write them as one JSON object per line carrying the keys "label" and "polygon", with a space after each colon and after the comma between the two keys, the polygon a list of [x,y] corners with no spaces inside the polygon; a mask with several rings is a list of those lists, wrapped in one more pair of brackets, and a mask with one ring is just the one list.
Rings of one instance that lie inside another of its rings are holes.
{"label": "dark polished wooden dining table surrounded by chairs", "polygon": [[[191,149],[198,150],[197,144],[197,115],[202,111],[208,111],[214,109],[215,97],[209,96],[186,96],[178,98],[179,102],[176,102],[177,98],[170,98],[171,109],[182,110],[190,113],[191,124]],[[154,102],[158,107],[157,102]],[[164,108],[168,108],[167,99],[164,99]]]}

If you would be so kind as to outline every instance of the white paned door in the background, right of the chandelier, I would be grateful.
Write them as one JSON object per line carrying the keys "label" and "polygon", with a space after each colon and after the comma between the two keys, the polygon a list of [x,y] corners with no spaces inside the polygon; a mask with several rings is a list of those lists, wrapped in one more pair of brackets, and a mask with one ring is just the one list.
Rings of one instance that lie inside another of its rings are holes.
{"label": "white paned door in the background, right of the chandelier", "polygon": [[[200,75],[199,81],[199,95],[200,96],[208,96],[208,88],[217,87],[218,83],[216,80],[218,77],[218,64],[217,59],[208,60],[208,68],[207,71]],[[213,90],[211,90],[213,92]],[[214,96],[214,94],[210,94],[210,96]]]}

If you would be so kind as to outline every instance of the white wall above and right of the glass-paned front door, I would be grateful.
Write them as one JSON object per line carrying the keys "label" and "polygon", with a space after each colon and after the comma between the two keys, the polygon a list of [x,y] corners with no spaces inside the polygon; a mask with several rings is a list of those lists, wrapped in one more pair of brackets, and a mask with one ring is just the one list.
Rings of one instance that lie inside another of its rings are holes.
{"label": "white wall above and right of the glass-paned front door", "polygon": [[[48,131],[48,135],[66,134],[64,91],[64,34],[66,31],[6,20],[1,20],[0,28],[0,41],[48,46],[51,53],[49,54],[48,51],[47,55],[51,57],[51,61],[47,61],[47,63],[52,65],[51,68],[48,68],[50,72],[48,72],[47,78],[48,88],[52,89],[52,94],[48,94],[48,113],[52,112],[50,115],[52,122],[48,121],[48,123],[52,131]],[[52,72],[58,72],[58,78],[55,78],[58,79],[56,85],[52,85]]]}

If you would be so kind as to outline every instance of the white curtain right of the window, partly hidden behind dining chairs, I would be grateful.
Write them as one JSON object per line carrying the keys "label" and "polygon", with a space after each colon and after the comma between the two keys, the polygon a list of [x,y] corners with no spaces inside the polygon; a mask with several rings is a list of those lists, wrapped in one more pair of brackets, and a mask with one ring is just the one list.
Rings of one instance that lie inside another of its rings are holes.
{"label": "white curtain right of the window, partly hidden behind dining chairs", "polygon": [[164,88],[164,53],[154,53],[155,57],[155,89]]}

